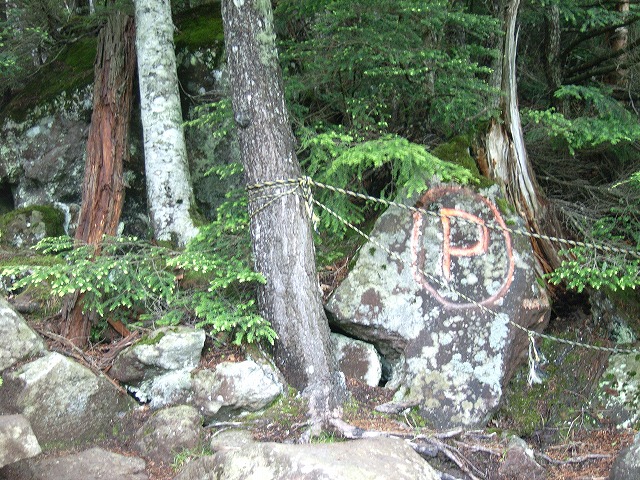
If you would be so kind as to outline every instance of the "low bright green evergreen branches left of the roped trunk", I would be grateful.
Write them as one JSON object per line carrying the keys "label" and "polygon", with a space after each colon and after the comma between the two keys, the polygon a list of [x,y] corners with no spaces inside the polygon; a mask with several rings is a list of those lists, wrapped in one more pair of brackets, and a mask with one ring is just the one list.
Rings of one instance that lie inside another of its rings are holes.
{"label": "low bright green evergreen branches left of the roped trunk", "polygon": [[46,282],[51,295],[84,294],[83,310],[154,325],[194,323],[236,344],[274,342],[276,334],[258,315],[255,273],[248,235],[246,198],[231,192],[218,218],[201,229],[183,252],[136,238],[106,237],[100,252],[69,237],[46,238],[36,250],[61,261],[1,267],[17,278],[14,289]]}

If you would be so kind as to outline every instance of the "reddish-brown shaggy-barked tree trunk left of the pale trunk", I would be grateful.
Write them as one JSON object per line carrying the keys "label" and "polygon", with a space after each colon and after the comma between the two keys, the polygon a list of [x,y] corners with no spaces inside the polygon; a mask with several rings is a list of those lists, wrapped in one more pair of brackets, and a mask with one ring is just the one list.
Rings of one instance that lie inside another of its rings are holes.
{"label": "reddish-brown shaggy-barked tree trunk left of the pale trunk", "polygon": [[[96,245],[96,254],[100,253],[103,235],[116,234],[124,202],[122,165],[128,158],[134,30],[131,17],[115,13],[98,41],[82,208],[75,236],[79,243]],[[82,313],[82,295],[65,301],[63,318],[63,335],[77,346],[86,345],[91,319]]]}

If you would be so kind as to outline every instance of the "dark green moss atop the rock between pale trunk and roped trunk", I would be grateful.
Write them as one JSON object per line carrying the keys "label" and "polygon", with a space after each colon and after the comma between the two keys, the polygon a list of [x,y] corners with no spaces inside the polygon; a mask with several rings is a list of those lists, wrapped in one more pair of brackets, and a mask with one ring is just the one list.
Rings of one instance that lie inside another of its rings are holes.
{"label": "dark green moss atop the rock between pale trunk and roped trunk", "polygon": [[175,23],[176,48],[195,50],[213,47],[224,39],[219,2],[201,5],[182,13],[175,19]]}

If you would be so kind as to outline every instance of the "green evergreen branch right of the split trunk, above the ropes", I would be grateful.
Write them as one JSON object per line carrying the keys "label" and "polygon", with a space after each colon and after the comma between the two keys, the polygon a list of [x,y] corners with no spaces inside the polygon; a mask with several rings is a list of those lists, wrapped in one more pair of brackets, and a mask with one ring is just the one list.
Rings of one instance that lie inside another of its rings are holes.
{"label": "green evergreen branch right of the split trunk, above the ropes", "polygon": [[640,140],[640,124],[636,116],[614,100],[610,91],[598,87],[565,85],[554,96],[573,104],[573,117],[556,111],[523,110],[523,121],[542,127],[530,130],[529,140],[536,134],[561,139],[572,155],[577,150],[594,148],[603,144]]}

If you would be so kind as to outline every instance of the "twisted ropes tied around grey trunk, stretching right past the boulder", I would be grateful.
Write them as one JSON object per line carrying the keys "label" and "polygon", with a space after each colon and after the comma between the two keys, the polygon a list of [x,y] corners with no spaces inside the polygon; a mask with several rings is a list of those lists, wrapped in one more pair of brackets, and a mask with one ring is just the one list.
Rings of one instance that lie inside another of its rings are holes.
{"label": "twisted ropes tied around grey trunk, stretching right past the boulder", "polygon": [[[352,197],[355,197],[355,198],[364,199],[364,200],[375,201],[375,202],[382,203],[382,204],[387,205],[387,206],[400,207],[400,208],[402,208],[404,210],[408,210],[408,211],[411,211],[411,212],[418,212],[420,214],[434,216],[436,218],[440,218],[442,216],[442,215],[440,215],[438,213],[431,212],[429,210],[425,210],[425,209],[422,209],[422,208],[410,207],[410,206],[407,206],[407,205],[403,205],[401,203],[397,203],[397,202],[393,202],[393,201],[389,201],[389,200],[384,200],[384,199],[379,199],[379,198],[371,197],[369,195],[364,195],[364,194],[360,194],[360,193],[357,193],[357,192],[351,192],[349,190],[345,190],[345,189],[342,189],[342,188],[339,188],[339,187],[333,187],[331,185],[326,185],[326,184],[323,184],[323,183],[320,183],[320,182],[316,182],[313,179],[311,179],[310,177],[299,177],[299,178],[291,178],[291,179],[285,179],[285,180],[276,180],[276,181],[273,181],[273,182],[264,182],[264,183],[254,184],[254,185],[248,186],[247,187],[247,191],[249,192],[249,194],[251,196],[251,194],[253,192],[259,192],[259,191],[262,191],[262,190],[265,190],[265,189],[270,189],[270,188],[275,188],[275,187],[282,187],[282,186],[287,186],[287,185],[295,185],[295,187],[292,188],[292,189],[288,189],[286,191],[283,191],[283,192],[275,193],[273,195],[264,194],[264,195],[261,195],[259,197],[251,198],[251,200],[270,199],[269,202],[267,202],[266,204],[262,205],[256,212],[252,212],[252,216],[257,214],[257,212],[263,210],[264,208],[267,208],[269,205],[271,205],[278,198],[282,198],[283,196],[290,195],[290,194],[299,195],[304,200],[305,204],[307,205],[306,211],[309,214],[309,216],[312,219],[312,222],[314,224],[316,223],[317,217],[313,213],[312,206],[313,205],[317,205],[319,208],[321,208],[322,210],[326,211],[329,215],[334,217],[336,220],[338,220],[340,223],[344,224],[345,226],[347,226],[348,228],[350,228],[354,232],[356,232],[358,235],[363,237],[365,240],[370,242],[372,245],[375,245],[376,247],[380,248],[383,252],[385,252],[390,257],[398,260],[399,262],[401,262],[401,263],[403,263],[405,265],[408,265],[409,267],[411,267],[409,262],[407,260],[405,260],[404,258],[402,258],[398,253],[391,251],[390,249],[388,249],[387,247],[382,245],[380,242],[378,242],[376,239],[374,239],[370,235],[366,234],[365,232],[360,230],[358,227],[353,225],[351,222],[349,222],[348,220],[343,218],[341,215],[339,215],[338,213],[336,213],[335,211],[333,211],[332,209],[330,209],[326,205],[320,203],[315,198],[313,198],[313,196],[311,196],[311,188],[310,187],[311,186],[316,186],[316,187],[324,188],[324,189],[327,189],[327,190],[330,190],[330,191],[333,191],[333,192],[336,192],[336,193],[341,193],[341,194],[349,195],[349,196],[352,196]],[[464,220],[463,218],[460,218],[460,217],[456,217],[456,218],[459,219],[459,220]],[[592,247],[592,248],[598,248],[600,250],[609,251],[609,252],[627,253],[627,254],[631,254],[633,256],[636,256],[636,257],[640,258],[640,252],[634,251],[634,250],[627,250],[627,249],[622,249],[622,248],[617,248],[617,247],[609,247],[607,245],[590,244],[590,243],[587,243],[587,242],[576,242],[576,241],[573,241],[573,240],[561,239],[561,238],[556,238],[556,237],[549,237],[549,236],[546,236],[546,235],[531,234],[529,232],[525,232],[525,231],[522,231],[522,230],[513,230],[513,229],[509,229],[509,228],[503,228],[503,227],[501,227],[499,225],[493,225],[493,226],[487,225],[487,228],[494,229],[494,230],[499,230],[499,231],[507,231],[509,233],[520,234],[520,235],[525,235],[525,236],[534,237],[534,238],[542,238],[542,239],[545,239],[545,240],[556,241],[556,242],[559,242],[559,243],[565,243],[565,244],[569,244],[569,245],[573,245],[573,246]],[[438,278],[436,278],[433,275],[431,275],[431,274],[427,273],[426,271],[424,271],[424,269],[418,268],[417,270],[418,270],[418,272],[420,272],[420,274],[424,275],[430,281],[438,284],[440,287],[443,287],[443,288],[449,290],[449,292],[458,295],[460,298],[462,298],[465,301],[471,303],[472,305],[474,305],[475,307],[479,308],[483,312],[488,313],[493,317],[497,317],[499,315],[498,312],[496,312],[496,311],[488,308],[487,306],[481,304],[480,302],[470,298],[468,295],[465,295],[465,294],[463,294],[461,292],[458,292],[455,289],[452,289],[449,285],[445,284],[444,282],[442,282]],[[529,345],[529,369],[530,369],[529,382],[530,383],[538,381],[538,376],[535,373],[535,370],[536,370],[536,366],[541,361],[541,356],[540,356],[540,354],[539,354],[539,352],[538,352],[538,350],[537,350],[537,348],[535,346],[535,338],[542,338],[542,339],[550,340],[550,341],[553,341],[553,342],[556,342],[556,343],[562,343],[562,344],[565,344],[565,345],[570,345],[570,346],[573,346],[573,347],[579,347],[579,348],[595,350],[595,351],[599,351],[599,352],[606,352],[606,353],[611,353],[611,354],[638,354],[638,353],[640,353],[640,350],[637,350],[637,349],[603,347],[603,346],[599,346],[599,345],[590,345],[590,344],[586,344],[586,343],[582,343],[582,342],[576,342],[576,341],[573,341],[573,340],[567,340],[567,339],[564,339],[564,338],[555,337],[553,335],[548,335],[546,333],[536,332],[535,330],[530,330],[530,329],[528,329],[526,327],[523,327],[522,325],[514,322],[511,319],[508,319],[507,322],[510,325],[512,325],[513,327],[525,332],[527,334],[527,336],[529,337],[529,342],[530,342],[530,345]]]}

